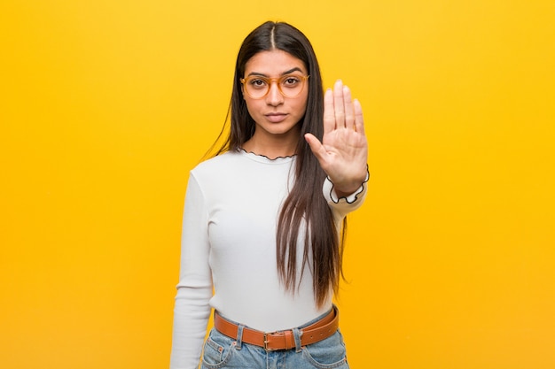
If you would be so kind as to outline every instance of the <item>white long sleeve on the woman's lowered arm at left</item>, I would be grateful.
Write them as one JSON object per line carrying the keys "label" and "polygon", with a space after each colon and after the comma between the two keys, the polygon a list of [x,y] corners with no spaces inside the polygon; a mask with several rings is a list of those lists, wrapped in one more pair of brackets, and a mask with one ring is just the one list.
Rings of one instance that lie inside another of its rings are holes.
{"label": "white long sleeve on the woman's lowered arm at left", "polygon": [[182,229],[181,270],[177,284],[171,369],[196,369],[207,330],[212,297],[212,273],[207,209],[201,188],[191,173]]}

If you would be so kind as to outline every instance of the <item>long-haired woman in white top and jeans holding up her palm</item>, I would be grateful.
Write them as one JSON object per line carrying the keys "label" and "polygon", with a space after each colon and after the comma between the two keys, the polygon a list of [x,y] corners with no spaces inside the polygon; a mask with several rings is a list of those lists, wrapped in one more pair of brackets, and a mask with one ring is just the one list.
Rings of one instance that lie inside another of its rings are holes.
{"label": "long-haired woman in white top and jeans holding up her palm", "polygon": [[196,368],[202,349],[203,368],[348,368],[332,296],[366,161],[362,108],[341,81],[324,95],[309,40],[285,23],[254,29],[231,133],[187,187],[172,368]]}

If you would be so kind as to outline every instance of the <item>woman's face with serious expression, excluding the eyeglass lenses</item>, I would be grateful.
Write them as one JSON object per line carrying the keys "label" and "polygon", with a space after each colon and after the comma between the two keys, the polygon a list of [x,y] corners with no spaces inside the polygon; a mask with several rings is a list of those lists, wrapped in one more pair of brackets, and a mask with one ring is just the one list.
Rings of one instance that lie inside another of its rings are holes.
{"label": "woman's face with serious expression, excluding the eyeglass lenses", "polygon": [[[261,76],[275,79],[270,83],[270,91],[262,98],[249,96],[243,86],[246,108],[256,123],[254,135],[271,135],[273,137],[299,135],[297,123],[304,116],[309,97],[309,82],[304,81],[304,88],[298,96],[286,97],[279,90],[278,80],[284,75],[293,77],[307,76],[307,70],[301,59],[293,57],[283,50],[261,51],[254,54],[245,65],[244,78]],[[287,84],[283,81],[282,89],[287,94]],[[254,81],[254,83],[263,83]]]}

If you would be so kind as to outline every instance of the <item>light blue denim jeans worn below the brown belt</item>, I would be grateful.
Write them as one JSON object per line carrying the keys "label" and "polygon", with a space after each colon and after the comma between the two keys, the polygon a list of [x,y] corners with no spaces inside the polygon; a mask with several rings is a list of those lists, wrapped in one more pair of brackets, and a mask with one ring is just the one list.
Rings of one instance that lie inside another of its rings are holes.
{"label": "light blue denim jeans worn below the brown belt", "polygon": [[241,342],[242,327],[239,325],[236,339],[212,328],[204,344],[202,369],[348,369],[345,343],[339,330],[320,342],[301,346],[302,327],[294,328],[296,348],[269,351]]}

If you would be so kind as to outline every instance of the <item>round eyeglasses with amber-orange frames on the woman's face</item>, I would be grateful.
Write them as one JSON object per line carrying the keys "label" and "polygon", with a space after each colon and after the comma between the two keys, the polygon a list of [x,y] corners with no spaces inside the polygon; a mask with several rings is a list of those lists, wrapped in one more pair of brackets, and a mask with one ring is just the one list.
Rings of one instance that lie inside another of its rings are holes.
{"label": "round eyeglasses with amber-orange frames on the woman's face", "polygon": [[279,78],[267,78],[260,75],[251,75],[241,78],[246,94],[254,99],[266,97],[270,92],[272,82],[277,82],[277,89],[285,97],[297,97],[301,95],[305,81],[309,75],[286,74]]}

